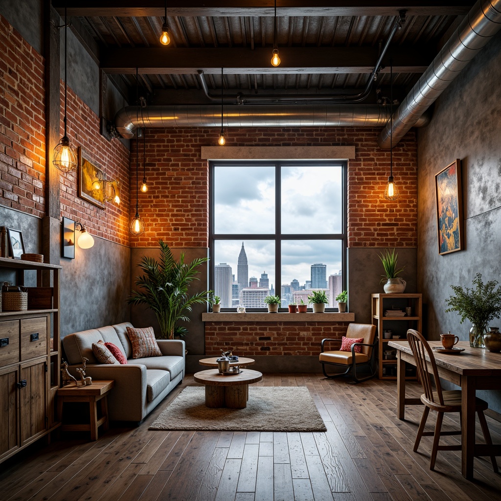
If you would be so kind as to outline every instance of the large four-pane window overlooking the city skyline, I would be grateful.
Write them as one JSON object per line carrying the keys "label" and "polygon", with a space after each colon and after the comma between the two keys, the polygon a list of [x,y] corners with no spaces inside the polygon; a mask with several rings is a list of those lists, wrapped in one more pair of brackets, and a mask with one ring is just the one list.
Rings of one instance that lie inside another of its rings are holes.
{"label": "large four-pane window overlooking the city skyline", "polygon": [[210,163],[210,281],[221,307],[346,288],[346,162]]}

